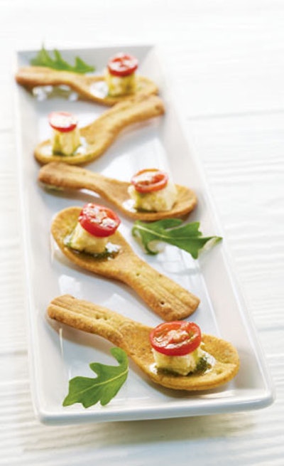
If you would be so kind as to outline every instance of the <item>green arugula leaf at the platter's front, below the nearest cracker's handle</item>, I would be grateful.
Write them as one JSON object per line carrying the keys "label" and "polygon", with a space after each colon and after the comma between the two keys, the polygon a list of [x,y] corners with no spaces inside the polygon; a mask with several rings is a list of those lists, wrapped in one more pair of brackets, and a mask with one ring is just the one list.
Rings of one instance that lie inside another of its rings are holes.
{"label": "green arugula leaf at the platter's front, below the nearest cracker's handle", "polygon": [[100,401],[107,405],[126,381],[129,364],[126,352],[121,348],[111,348],[111,354],[119,366],[107,366],[92,362],[89,367],[97,374],[96,378],[77,376],[69,381],[69,393],[63,401],[63,406],[82,403],[84,408],[95,405]]}

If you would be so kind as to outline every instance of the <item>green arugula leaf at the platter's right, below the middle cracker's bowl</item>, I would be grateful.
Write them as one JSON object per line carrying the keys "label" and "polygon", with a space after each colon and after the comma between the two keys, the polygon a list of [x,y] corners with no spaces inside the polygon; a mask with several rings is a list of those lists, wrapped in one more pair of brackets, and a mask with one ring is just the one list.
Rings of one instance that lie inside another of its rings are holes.
{"label": "green arugula leaf at the platter's right, below the middle cracker's bowl", "polygon": [[163,241],[187,251],[194,259],[197,259],[206,243],[211,241],[216,244],[222,240],[220,236],[202,236],[199,222],[180,226],[181,223],[180,218],[166,218],[152,223],[137,220],[132,228],[132,234],[141,241],[148,254],[158,254],[159,251],[153,246],[153,242]]}

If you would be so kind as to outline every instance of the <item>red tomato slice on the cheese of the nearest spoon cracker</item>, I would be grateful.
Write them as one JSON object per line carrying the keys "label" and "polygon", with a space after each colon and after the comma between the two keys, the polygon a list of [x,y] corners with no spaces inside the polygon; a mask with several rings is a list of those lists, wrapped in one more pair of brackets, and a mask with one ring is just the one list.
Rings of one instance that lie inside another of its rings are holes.
{"label": "red tomato slice on the cheese of the nearest spoon cracker", "polygon": [[200,327],[194,322],[165,322],[150,334],[153,349],[167,356],[183,356],[195,351],[201,343]]}

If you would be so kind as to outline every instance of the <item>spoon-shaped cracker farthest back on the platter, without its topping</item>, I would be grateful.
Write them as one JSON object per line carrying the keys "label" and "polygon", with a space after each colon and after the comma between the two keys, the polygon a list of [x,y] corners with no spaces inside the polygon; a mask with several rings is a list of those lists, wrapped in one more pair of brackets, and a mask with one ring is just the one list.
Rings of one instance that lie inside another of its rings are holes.
{"label": "spoon-shaped cracker farthest back on the platter, without its topping", "polygon": [[[36,86],[67,85],[80,95],[83,100],[91,100],[102,105],[114,105],[121,100],[126,100],[129,95],[112,97],[107,95],[107,84],[103,75],[80,75],[70,71],[53,70],[41,66],[26,66],[16,73],[16,82],[26,88]],[[157,94],[158,88],[148,78],[136,76],[136,92],[133,95]]]}

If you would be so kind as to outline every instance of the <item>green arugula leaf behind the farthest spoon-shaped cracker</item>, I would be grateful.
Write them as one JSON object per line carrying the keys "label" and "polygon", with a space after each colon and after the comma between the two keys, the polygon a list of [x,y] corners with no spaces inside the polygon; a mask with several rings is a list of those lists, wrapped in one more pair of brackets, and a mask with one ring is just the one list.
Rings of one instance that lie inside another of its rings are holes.
{"label": "green arugula leaf behind the farthest spoon-shaped cracker", "polygon": [[54,58],[48,54],[42,46],[41,50],[31,59],[31,65],[33,66],[45,66],[53,68],[54,70],[72,71],[73,73],[88,73],[94,71],[94,66],[87,65],[80,57],[75,57],[75,65],[72,66],[67,61],[63,60],[61,53],[58,50],[53,51]]}

